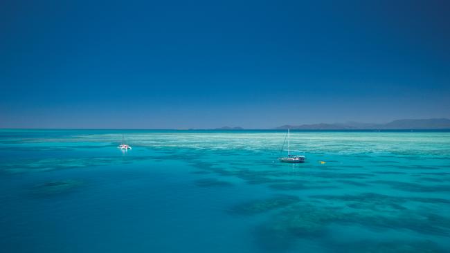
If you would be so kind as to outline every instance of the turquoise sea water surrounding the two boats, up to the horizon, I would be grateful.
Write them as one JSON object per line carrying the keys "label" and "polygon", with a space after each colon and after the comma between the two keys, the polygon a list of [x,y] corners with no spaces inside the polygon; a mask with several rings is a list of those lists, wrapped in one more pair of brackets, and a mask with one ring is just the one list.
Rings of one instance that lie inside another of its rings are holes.
{"label": "turquoise sea water surrounding the two boats, up to the horizon", "polygon": [[1,252],[450,252],[450,132],[284,138],[0,130]]}

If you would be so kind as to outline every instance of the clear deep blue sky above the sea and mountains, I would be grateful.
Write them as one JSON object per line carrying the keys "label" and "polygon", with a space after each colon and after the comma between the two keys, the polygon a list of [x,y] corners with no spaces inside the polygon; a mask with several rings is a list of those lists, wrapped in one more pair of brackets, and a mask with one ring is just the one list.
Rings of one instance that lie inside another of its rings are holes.
{"label": "clear deep blue sky above the sea and mountains", "polygon": [[450,1],[1,1],[0,127],[450,118]]}

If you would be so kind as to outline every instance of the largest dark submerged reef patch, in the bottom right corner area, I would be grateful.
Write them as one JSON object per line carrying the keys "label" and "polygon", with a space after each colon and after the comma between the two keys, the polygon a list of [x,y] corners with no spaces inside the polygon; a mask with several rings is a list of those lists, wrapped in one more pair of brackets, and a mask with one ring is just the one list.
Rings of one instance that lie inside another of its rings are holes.
{"label": "largest dark submerged reef patch, in the bottom right corner area", "polygon": [[[354,196],[344,198],[355,199]],[[361,196],[356,197],[357,200],[360,198]],[[291,247],[296,238],[324,236],[332,223],[358,225],[375,232],[384,232],[386,229],[402,232],[408,229],[420,234],[449,236],[449,218],[436,214],[418,214],[394,205],[382,196],[376,198],[372,203],[361,207],[376,207],[377,210],[358,209],[357,212],[345,211],[348,208],[343,207],[289,205],[257,227],[256,241],[264,247],[280,247],[280,251],[283,251]],[[363,205],[360,201],[355,203]],[[393,212],[379,212],[386,209],[383,207],[385,203],[393,207]],[[264,242],[267,238],[273,238],[273,241]]]}

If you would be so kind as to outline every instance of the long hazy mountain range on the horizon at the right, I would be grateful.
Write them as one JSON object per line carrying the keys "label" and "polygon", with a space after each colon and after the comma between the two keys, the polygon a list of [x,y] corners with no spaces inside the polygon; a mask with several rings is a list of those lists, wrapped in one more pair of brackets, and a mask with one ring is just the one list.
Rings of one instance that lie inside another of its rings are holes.
{"label": "long hazy mountain range on the horizon at the right", "polygon": [[386,124],[370,124],[360,122],[320,123],[284,125],[276,129],[303,129],[303,130],[358,130],[358,129],[450,129],[450,120],[446,118],[425,120],[394,120]]}

